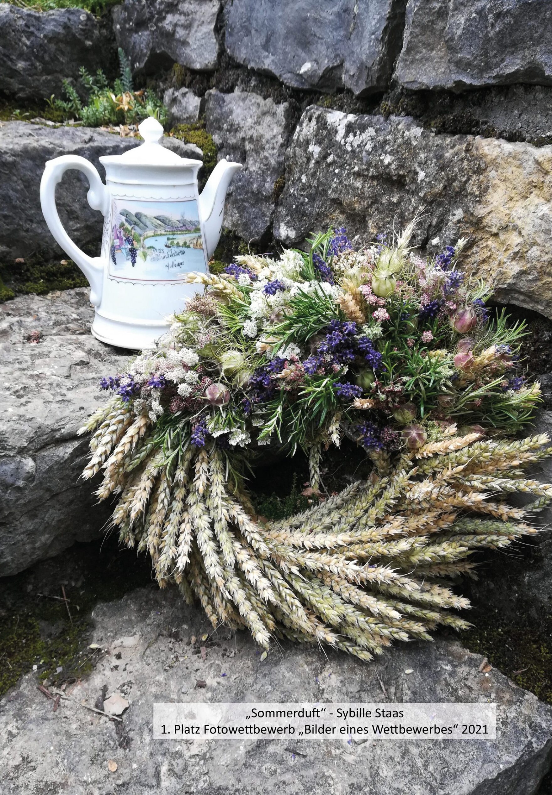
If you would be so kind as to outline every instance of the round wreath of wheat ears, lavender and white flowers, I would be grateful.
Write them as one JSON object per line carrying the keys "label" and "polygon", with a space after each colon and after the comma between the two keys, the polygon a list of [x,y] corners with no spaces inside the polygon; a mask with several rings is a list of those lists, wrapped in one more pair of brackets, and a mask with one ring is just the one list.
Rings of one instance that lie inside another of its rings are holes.
{"label": "round wreath of wheat ears, lavender and white flowers", "polygon": [[[355,251],[344,230],[279,258],[244,255],[174,318],[157,351],[104,378],[111,400],[83,432],[99,498],[119,495],[122,542],[216,626],[323,642],[370,659],[393,640],[467,626],[447,580],[473,549],[534,533],[552,487],[523,470],[550,454],[518,441],[538,401],[490,290],[462,273],[463,241],[409,249],[413,225]],[[325,495],[321,460],[348,437],[373,467]],[[244,473],[272,445],[309,454],[321,502],[255,520]],[[525,508],[508,496],[531,496]]]}

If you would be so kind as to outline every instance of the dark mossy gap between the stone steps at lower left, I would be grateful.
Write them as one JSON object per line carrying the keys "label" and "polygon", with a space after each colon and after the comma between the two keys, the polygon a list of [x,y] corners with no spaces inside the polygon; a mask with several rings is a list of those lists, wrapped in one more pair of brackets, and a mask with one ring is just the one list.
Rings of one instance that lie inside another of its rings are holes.
{"label": "dark mossy gap between the stone steps at lower left", "polygon": [[101,654],[88,648],[95,603],[150,583],[145,557],[118,549],[114,537],[0,580],[0,695],[34,665],[38,681],[58,686],[88,673]]}

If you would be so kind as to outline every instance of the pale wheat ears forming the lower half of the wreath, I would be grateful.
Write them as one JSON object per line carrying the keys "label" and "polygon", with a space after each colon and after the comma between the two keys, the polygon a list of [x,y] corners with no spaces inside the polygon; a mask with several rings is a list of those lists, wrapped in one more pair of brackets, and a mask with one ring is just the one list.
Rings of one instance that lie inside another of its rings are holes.
{"label": "pale wheat ears forming the lower half of the wreath", "polygon": [[[215,444],[182,445],[175,433],[160,448],[148,418],[117,400],[81,431],[94,429],[84,477],[103,468],[99,498],[120,493],[121,541],[150,553],[161,588],[172,581],[213,626],[247,628],[265,649],[291,638],[370,660],[438,624],[464,629],[449,610],[468,600],[446,578],[472,573],[473,549],[535,533],[527,522],[552,502],[552,485],[524,477],[552,452],[546,435],[492,440],[452,425],[391,475],[263,524]],[[507,504],[514,492],[532,501]]]}

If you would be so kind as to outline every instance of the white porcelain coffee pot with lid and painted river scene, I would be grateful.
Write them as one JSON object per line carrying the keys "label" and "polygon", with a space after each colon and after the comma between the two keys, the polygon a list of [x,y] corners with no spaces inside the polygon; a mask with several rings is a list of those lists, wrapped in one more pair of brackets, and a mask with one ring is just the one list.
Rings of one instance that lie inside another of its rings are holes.
{"label": "white porcelain coffee pot with lid and painted river scene", "polygon": [[[196,293],[196,285],[182,280],[192,270],[207,272],[222,231],[228,185],[242,168],[221,160],[199,194],[201,161],[165,149],[159,143],[163,128],[155,118],[146,118],[138,130],[142,145],[99,158],[106,184],[78,155],[48,161],[41,181],[49,230],[90,282],[92,334],[132,350],[154,347],[167,331],[168,316]],[[99,257],[76,246],[57,214],[56,184],[68,169],[84,173],[88,204],[104,215]]]}

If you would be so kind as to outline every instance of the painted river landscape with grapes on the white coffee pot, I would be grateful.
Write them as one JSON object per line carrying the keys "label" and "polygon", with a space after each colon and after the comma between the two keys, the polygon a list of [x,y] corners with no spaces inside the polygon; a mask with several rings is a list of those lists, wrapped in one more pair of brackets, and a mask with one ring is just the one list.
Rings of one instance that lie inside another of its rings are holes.
{"label": "painted river landscape with grapes on the white coffee pot", "polygon": [[111,277],[174,281],[191,270],[206,270],[196,200],[113,201]]}

